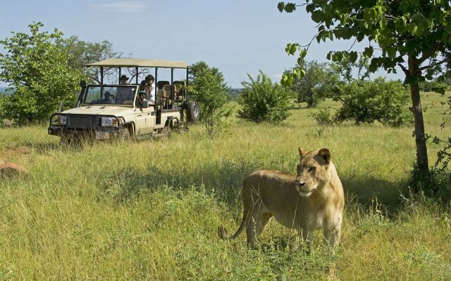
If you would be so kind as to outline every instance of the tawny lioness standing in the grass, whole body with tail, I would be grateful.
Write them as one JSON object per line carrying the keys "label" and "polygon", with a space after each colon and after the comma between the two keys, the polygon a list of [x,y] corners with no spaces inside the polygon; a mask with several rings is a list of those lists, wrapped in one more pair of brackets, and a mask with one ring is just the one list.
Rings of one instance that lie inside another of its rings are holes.
{"label": "tawny lioness standing in the grass, whole body with tail", "polygon": [[297,176],[275,170],[254,171],[242,182],[244,214],[240,228],[228,237],[218,227],[221,239],[235,239],[246,228],[247,245],[255,247],[257,237],[274,216],[276,221],[294,228],[311,248],[313,232],[324,230],[325,244],[340,240],[345,197],[337,171],[327,148],[307,152],[299,148]]}

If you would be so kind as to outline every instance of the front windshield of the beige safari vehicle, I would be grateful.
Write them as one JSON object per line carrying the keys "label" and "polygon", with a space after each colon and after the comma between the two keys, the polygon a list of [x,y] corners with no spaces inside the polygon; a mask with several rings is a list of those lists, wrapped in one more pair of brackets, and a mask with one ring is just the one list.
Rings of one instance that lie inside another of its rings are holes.
{"label": "front windshield of the beige safari vehicle", "polygon": [[132,105],[136,85],[88,86],[83,103]]}

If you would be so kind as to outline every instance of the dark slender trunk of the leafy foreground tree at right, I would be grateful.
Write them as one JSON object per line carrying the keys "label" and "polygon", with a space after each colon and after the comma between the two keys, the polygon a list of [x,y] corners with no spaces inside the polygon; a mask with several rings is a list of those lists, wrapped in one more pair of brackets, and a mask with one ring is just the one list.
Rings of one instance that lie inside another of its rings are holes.
{"label": "dark slender trunk of the leafy foreground tree at right", "polygon": [[428,150],[426,148],[426,135],[424,133],[423,111],[421,110],[419,81],[419,65],[412,55],[409,55],[409,72],[410,72],[410,97],[412,98],[412,113],[414,114],[415,123],[415,143],[416,143],[416,164],[421,173],[429,174]]}

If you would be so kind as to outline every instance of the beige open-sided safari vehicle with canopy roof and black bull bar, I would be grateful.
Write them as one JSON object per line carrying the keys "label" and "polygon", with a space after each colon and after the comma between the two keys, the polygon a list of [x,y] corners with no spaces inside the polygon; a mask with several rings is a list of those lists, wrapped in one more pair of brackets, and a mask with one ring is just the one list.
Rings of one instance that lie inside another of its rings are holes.
{"label": "beige open-sided safari vehicle with canopy roof and black bull bar", "polygon": [[[174,69],[185,70],[188,78],[185,62],[110,58],[85,66],[100,67],[101,83],[86,85],[81,81],[82,90],[76,107],[51,115],[49,134],[60,136],[62,141],[70,142],[81,136],[96,139],[166,136],[171,129],[186,131],[187,122],[199,119],[199,104],[187,92],[188,79],[173,81]],[[155,103],[138,100],[140,67],[155,70]],[[103,83],[105,70],[117,69],[119,81],[122,68],[131,68],[135,72],[135,84]],[[158,80],[161,68],[171,69],[171,81]]]}

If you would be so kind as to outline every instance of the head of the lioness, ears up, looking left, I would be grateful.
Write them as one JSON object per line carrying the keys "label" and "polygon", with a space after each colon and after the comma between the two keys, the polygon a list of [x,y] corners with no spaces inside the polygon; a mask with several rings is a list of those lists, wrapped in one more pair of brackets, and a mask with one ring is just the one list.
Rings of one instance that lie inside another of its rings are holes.
{"label": "head of the lioness, ears up, looking left", "polygon": [[330,179],[330,152],[327,148],[311,152],[299,148],[299,157],[296,190],[301,196],[308,197],[316,189],[326,185]]}

